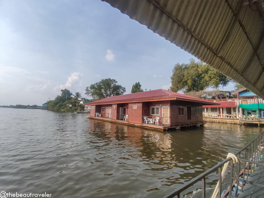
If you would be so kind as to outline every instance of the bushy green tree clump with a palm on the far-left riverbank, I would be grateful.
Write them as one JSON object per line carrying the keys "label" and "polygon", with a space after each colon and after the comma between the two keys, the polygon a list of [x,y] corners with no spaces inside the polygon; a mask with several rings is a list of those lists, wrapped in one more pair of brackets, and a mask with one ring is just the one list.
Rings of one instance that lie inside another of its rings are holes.
{"label": "bushy green tree clump with a palm on the far-left riverbank", "polygon": [[52,111],[82,111],[84,107],[79,104],[79,98],[81,94],[75,92],[72,94],[68,89],[60,90],[61,94],[57,95],[54,100],[47,101],[47,109]]}

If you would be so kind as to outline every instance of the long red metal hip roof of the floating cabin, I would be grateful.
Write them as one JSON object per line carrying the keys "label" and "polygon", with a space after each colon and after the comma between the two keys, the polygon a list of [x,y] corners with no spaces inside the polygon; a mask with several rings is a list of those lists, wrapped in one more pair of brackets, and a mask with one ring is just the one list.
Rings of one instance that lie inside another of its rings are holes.
{"label": "long red metal hip roof of the floating cabin", "polygon": [[104,98],[101,100],[96,100],[90,102],[89,104],[84,105],[93,105],[93,104],[113,104],[113,103],[120,103],[120,102],[136,102],[136,101],[155,101],[155,100],[187,100],[193,102],[199,102],[203,104],[215,104],[217,103],[207,101],[204,99],[187,96],[184,94],[179,94],[176,92],[167,91],[164,89],[156,89],[147,92],[138,92],[133,94],[125,94],[120,96],[113,96]]}

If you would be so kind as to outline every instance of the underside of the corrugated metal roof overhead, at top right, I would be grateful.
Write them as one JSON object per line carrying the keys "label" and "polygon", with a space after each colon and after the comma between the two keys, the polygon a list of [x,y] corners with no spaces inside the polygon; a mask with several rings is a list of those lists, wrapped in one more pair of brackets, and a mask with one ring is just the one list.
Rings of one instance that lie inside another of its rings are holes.
{"label": "underside of the corrugated metal roof overhead, at top right", "polygon": [[103,0],[264,99],[263,0]]}

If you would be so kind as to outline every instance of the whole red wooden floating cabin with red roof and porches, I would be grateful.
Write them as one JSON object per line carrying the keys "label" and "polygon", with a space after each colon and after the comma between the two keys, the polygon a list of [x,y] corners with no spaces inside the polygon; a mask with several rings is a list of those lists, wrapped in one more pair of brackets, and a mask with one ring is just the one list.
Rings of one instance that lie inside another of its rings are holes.
{"label": "whole red wooden floating cabin with red roof and porches", "polygon": [[157,89],[113,96],[88,104],[89,118],[158,129],[202,125],[202,105],[215,104],[176,92]]}

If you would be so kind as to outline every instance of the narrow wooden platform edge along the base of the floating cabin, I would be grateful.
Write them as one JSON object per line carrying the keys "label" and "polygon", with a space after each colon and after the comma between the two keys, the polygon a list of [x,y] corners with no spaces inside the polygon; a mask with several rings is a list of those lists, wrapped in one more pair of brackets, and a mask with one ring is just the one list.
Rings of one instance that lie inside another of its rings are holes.
{"label": "narrow wooden platform edge along the base of the floating cabin", "polygon": [[155,128],[155,129],[163,130],[163,131],[167,130],[169,128],[180,128],[180,127],[184,127],[184,126],[198,126],[198,125],[200,126],[200,125],[204,125],[206,123],[206,122],[203,122],[203,123],[185,124],[185,125],[177,125],[177,126],[170,126],[170,125],[161,126],[161,125],[153,125],[153,124],[138,124],[138,123],[132,123],[129,121],[112,120],[109,118],[101,118],[101,117],[91,117],[91,116],[85,116],[85,117],[91,118],[91,119],[115,122],[115,123],[123,123],[123,124],[128,124],[128,125],[133,125],[133,126],[140,126],[140,127],[145,127],[145,128]]}

